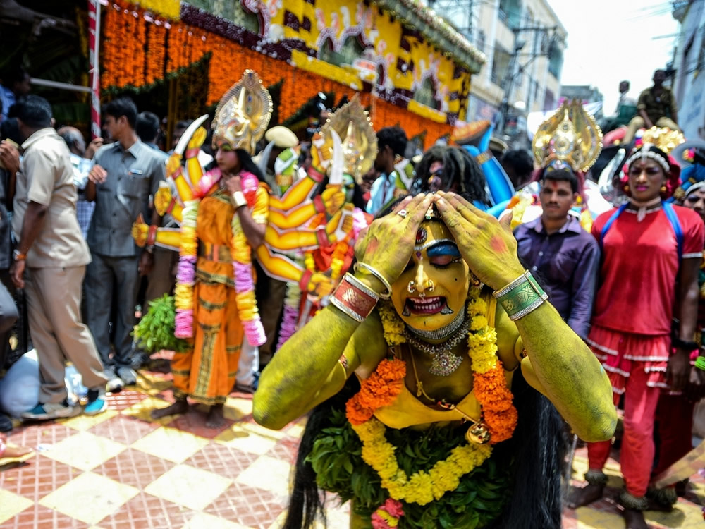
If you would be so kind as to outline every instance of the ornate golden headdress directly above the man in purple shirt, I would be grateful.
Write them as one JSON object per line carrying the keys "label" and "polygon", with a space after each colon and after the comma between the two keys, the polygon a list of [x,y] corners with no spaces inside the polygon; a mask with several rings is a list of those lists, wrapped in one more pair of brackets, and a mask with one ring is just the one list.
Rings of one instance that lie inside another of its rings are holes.
{"label": "ornate golden headdress directly above the man in purple shirt", "polygon": [[602,130],[577,99],[563,102],[532,140],[534,159],[541,167],[560,160],[573,171],[587,171],[601,151]]}

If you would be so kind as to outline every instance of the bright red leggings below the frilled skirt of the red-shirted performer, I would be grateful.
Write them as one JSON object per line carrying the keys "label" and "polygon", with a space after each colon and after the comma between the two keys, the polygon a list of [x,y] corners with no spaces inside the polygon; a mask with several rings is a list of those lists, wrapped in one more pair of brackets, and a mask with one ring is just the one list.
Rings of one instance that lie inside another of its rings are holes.
{"label": "bright red leggings below the frilled skirt of the red-shirted performer", "polygon": [[[645,363],[632,361],[630,376],[626,379],[624,393],[624,437],[620,463],[627,492],[637,498],[646,494],[654,464],[654,419],[661,389],[649,387],[649,373]],[[613,394],[615,406],[620,396]],[[602,470],[610,455],[611,443],[588,443],[587,455],[590,470]]]}

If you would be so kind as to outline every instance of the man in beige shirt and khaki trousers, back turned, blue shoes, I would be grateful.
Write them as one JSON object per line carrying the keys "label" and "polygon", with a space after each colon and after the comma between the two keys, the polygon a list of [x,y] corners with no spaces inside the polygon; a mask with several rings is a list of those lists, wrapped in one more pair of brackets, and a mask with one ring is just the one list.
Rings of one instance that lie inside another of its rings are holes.
{"label": "man in beige shirt and khaki trousers, back turned, blue shoes", "polygon": [[71,157],[51,128],[51,106],[28,96],[15,105],[24,156],[16,174],[12,229],[18,241],[11,276],[25,289],[32,342],[39,358],[39,403],[33,420],[68,417],[64,367],[71,361],[89,389],[84,412],[101,413],[106,377],[93,337],[80,321],[81,284],[90,253],[76,218]]}

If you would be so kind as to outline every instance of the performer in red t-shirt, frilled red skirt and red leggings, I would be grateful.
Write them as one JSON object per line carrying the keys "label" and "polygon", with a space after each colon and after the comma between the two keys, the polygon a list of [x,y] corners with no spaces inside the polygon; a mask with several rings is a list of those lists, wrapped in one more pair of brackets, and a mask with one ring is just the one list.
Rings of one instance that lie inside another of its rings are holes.
{"label": "performer in red t-shirt, frilled red skirt and red leggings", "polygon": [[[705,228],[692,210],[662,202],[680,176],[668,154],[645,144],[632,152],[625,171],[630,201],[592,226],[603,262],[587,343],[610,377],[615,405],[624,396],[620,463],[626,490],[620,503],[627,529],[646,529],[642,511],[654,461],[656,405],[661,389],[682,391],[688,380]],[[674,315],[680,322],[672,351]],[[610,449],[609,441],[588,444],[588,485],[573,491],[569,506],[602,497]]]}

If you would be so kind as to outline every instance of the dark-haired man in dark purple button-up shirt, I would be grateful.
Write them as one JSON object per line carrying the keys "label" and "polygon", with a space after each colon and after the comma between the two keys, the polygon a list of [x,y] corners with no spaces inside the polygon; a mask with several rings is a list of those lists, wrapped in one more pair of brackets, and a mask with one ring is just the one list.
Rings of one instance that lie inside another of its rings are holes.
{"label": "dark-haired man in dark purple button-up shirt", "polygon": [[569,214],[577,193],[570,169],[546,171],[541,181],[539,219],[517,226],[519,257],[543,278],[551,304],[571,329],[587,338],[600,249],[580,221]]}

